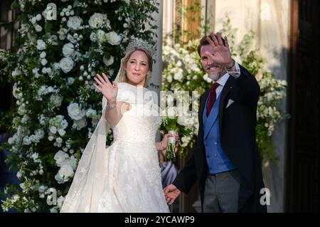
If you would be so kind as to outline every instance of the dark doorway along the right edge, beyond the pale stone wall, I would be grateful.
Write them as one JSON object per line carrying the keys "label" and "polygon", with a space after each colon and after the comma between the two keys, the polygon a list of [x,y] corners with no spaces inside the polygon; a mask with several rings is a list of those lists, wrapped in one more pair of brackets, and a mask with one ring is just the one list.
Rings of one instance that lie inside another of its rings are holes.
{"label": "dark doorway along the right edge, beyond the pale stone wall", "polygon": [[319,1],[291,1],[287,212],[319,212]]}

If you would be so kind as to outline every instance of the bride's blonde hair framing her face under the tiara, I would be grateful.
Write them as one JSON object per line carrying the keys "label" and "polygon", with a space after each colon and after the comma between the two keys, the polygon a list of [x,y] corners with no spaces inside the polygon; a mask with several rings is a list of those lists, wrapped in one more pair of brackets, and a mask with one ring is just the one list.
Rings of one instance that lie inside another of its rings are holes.
{"label": "bride's blonde hair framing her face under the tiara", "polygon": [[149,53],[149,51],[144,50],[143,48],[137,48],[135,50],[129,51],[126,53],[126,55],[124,56],[124,58],[122,58],[121,60],[121,69],[120,69],[120,74],[119,74],[119,82],[124,82],[127,83],[128,82],[128,78],[127,78],[127,73],[126,73],[126,68],[127,68],[127,63],[130,59],[130,57],[132,56],[132,53],[134,53],[135,51],[142,51],[143,53],[146,54],[146,57],[148,58],[148,66],[149,66],[149,70],[148,73],[146,74],[146,81],[144,83],[144,87],[146,87],[148,85],[148,81],[151,78],[151,73],[152,73],[152,56]]}

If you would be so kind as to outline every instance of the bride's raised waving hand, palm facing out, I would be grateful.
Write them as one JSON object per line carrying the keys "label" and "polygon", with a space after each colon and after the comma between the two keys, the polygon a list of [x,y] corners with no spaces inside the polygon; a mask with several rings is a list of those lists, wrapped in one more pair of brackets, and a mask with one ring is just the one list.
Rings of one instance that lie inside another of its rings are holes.
{"label": "bride's raised waving hand, palm facing out", "polygon": [[102,75],[103,78],[99,74],[97,74],[95,78],[93,78],[98,84],[97,85],[93,83],[93,85],[95,86],[95,88],[97,88],[97,90],[100,91],[100,93],[102,93],[102,95],[105,96],[108,102],[115,101],[117,99],[118,85],[117,83],[112,84],[105,73],[102,73]]}

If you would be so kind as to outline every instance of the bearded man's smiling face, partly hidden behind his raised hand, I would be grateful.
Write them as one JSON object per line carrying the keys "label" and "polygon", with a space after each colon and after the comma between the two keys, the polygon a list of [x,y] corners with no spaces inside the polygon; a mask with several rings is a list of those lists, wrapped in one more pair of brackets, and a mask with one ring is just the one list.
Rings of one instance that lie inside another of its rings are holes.
{"label": "bearded man's smiling face, partly hidden behind his raised hand", "polygon": [[225,67],[223,67],[222,65],[218,65],[217,63],[213,62],[211,58],[208,58],[205,54],[206,51],[208,51],[209,53],[214,53],[212,46],[201,46],[200,56],[202,66],[206,73],[208,73],[208,77],[214,81],[217,81],[226,73]]}

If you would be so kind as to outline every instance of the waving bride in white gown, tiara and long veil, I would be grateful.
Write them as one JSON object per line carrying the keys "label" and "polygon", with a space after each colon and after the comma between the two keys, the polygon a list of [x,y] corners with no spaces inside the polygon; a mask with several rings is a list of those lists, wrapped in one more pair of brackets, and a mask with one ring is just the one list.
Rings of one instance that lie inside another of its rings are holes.
{"label": "waving bride in white gown, tiara and long veil", "polygon": [[[102,117],[60,212],[169,212],[156,151],[166,149],[173,135],[154,142],[161,117],[156,97],[144,88],[152,72],[151,53],[149,44],[134,40],[122,58],[119,83],[110,83],[105,73],[95,77],[103,94]],[[110,127],[114,141],[106,148]]]}

